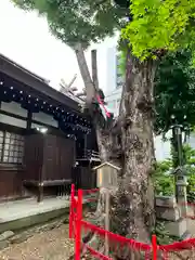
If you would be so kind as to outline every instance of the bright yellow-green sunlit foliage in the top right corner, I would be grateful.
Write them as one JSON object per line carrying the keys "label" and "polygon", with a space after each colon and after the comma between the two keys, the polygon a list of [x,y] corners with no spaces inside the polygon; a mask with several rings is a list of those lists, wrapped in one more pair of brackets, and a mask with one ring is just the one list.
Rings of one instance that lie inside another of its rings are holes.
{"label": "bright yellow-green sunlit foliage in the top right corner", "polygon": [[132,21],[122,29],[133,54],[145,60],[159,50],[195,50],[194,0],[132,0]]}

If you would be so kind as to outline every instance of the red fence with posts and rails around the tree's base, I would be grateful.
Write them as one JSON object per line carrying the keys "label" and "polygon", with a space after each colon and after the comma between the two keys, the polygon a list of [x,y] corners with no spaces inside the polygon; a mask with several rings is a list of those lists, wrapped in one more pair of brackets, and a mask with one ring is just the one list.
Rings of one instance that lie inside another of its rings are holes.
{"label": "red fence with posts and rails around the tree's base", "polygon": [[[81,248],[84,248],[90,252],[91,256],[93,256],[96,259],[103,259],[103,260],[112,260],[109,256],[105,256],[100,251],[94,250],[92,247],[89,247],[88,245],[83,245],[81,239],[81,232],[82,229],[87,232],[93,232],[98,234],[100,237],[108,238],[109,245],[120,245],[120,250],[123,248],[128,248],[130,252],[139,252],[140,259],[145,260],[171,260],[177,259],[174,256],[180,253],[188,253],[188,252],[195,252],[195,238],[191,238],[183,242],[176,242],[171,245],[157,245],[156,235],[152,236],[152,244],[144,244],[136,242],[131,238],[127,238],[117,234],[114,234],[109,231],[106,231],[102,227],[99,227],[94,224],[91,224],[82,219],[82,197],[83,194],[91,194],[96,193],[99,190],[88,190],[82,191],[78,190],[78,196],[76,197],[76,191],[75,186],[72,185],[72,194],[70,194],[70,210],[69,210],[69,238],[75,239],[75,260],[80,260],[80,252]],[[160,258],[158,258],[160,256]],[[188,256],[188,255],[187,255]],[[142,257],[142,258],[141,258]],[[152,257],[152,258],[151,258]],[[191,256],[192,257],[192,256]],[[178,258],[179,259],[179,258]],[[186,259],[195,259],[195,255],[192,258]]]}

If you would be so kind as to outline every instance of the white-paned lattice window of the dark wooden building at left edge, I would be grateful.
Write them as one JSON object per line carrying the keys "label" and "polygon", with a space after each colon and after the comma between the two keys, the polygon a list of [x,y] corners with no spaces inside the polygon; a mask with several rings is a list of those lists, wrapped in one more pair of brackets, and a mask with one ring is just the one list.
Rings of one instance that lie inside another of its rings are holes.
{"label": "white-paned lattice window of the dark wooden building at left edge", "polygon": [[24,154],[24,136],[0,131],[0,162],[22,164]]}

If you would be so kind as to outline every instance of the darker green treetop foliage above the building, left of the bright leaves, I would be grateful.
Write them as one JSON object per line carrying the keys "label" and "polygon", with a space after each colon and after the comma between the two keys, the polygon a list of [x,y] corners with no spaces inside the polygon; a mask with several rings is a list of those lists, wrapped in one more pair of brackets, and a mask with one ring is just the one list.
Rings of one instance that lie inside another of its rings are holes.
{"label": "darker green treetop foliage above the building, left of the bright leaves", "polygon": [[113,36],[122,26],[126,11],[110,0],[12,0],[24,10],[47,16],[51,32],[70,47]]}

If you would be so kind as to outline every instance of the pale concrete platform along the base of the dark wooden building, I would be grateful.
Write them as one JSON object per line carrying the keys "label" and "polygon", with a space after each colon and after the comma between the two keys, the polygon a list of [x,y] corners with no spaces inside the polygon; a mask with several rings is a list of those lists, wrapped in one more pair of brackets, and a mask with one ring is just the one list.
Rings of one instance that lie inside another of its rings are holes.
{"label": "pale concrete platform along the base of the dark wooden building", "polygon": [[[0,205],[0,233],[17,231],[48,222],[69,212],[65,198],[48,198],[41,204],[35,199],[12,202]],[[1,218],[2,217],[2,218]]]}

